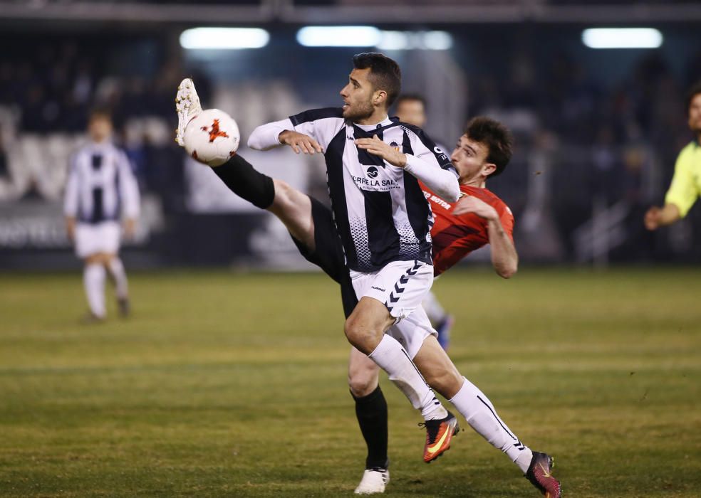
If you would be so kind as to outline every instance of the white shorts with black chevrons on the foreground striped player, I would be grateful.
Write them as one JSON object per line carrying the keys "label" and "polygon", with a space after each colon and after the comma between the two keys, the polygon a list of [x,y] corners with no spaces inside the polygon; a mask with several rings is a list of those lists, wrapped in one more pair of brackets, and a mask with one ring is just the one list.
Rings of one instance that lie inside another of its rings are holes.
{"label": "white shorts with black chevrons on the foreground striped player", "polygon": [[421,307],[433,284],[433,267],[415,260],[393,261],[372,273],[351,271],[350,279],[358,300],[378,300],[400,322]]}

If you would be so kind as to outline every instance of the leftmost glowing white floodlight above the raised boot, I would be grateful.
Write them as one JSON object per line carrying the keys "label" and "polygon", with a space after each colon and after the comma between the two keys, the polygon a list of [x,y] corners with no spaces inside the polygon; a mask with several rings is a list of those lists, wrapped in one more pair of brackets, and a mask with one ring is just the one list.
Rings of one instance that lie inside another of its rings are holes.
{"label": "leftmost glowing white floodlight above the raised boot", "polygon": [[180,46],[189,50],[261,48],[269,40],[261,28],[192,28],[180,33]]}

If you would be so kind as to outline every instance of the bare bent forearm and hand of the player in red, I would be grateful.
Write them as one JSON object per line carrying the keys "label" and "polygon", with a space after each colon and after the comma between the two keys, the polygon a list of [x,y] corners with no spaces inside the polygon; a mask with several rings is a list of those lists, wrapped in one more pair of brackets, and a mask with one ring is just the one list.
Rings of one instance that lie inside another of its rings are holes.
{"label": "bare bent forearm and hand of the player in red", "polygon": [[497,210],[477,197],[464,196],[453,210],[455,215],[467,213],[474,213],[487,221],[489,245],[492,246],[492,266],[500,277],[512,277],[519,268],[519,254],[516,253],[514,241],[507,231],[511,226],[504,227]]}

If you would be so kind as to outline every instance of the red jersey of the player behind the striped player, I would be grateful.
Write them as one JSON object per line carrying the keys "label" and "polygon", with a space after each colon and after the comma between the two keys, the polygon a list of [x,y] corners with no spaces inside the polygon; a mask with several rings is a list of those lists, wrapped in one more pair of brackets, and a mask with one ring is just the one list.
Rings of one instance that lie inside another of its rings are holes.
{"label": "red jersey of the player behind the striped player", "polygon": [[[431,228],[433,239],[433,272],[440,275],[459,260],[489,243],[487,220],[474,213],[455,216],[452,213],[455,203],[447,203],[434,194],[427,186],[421,189],[433,211],[434,223]],[[479,198],[497,210],[504,231],[514,240],[514,215],[502,199],[487,189],[461,185],[462,195]]]}

